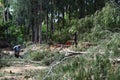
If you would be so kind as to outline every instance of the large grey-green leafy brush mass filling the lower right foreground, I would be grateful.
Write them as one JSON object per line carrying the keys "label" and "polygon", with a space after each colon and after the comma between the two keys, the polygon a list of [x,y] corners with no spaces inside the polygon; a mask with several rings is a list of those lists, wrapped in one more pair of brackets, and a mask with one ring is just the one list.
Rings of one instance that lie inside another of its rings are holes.
{"label": "large grey-green leafy brush mass filling the lower right foreground", "polygon": [[51,71],[41,71],[39,79],[50,71],[44,80],[119,80],[120,64],[114,59],[119,58],[120,50],[115,46],[110,40],[104,45],[90,47],[89,54],[70,57]]}

